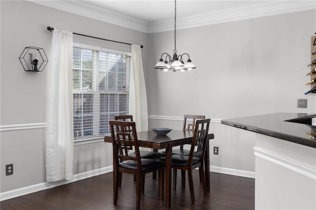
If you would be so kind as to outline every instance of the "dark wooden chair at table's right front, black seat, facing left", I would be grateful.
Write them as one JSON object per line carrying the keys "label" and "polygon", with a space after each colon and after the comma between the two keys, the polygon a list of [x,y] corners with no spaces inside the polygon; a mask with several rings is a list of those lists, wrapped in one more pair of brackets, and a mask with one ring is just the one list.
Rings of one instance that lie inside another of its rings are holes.
{"label": "dark wooden chair at table's right front, black seat, facing left", "polygon": [[[194,188],[193,188],[193,176],[192,171],[196,168],[199,170],[199,176],[201,179],[203,195],[206,195],[206,183],[204,176],[204,156],[207,146],[207,134],[209,129],[210,119],[197,120],[195,123],[194,135],[191,141],[191,149],[189,156],[186,155],[172,155],[172,168],[173,170],[173,184],[175,186],[177,178],[177,170],[181,172],[188,171],[189,187],[191,203],[195,203]],[[159,159],[164,161],[164,158]],[[185,176],[182,175],[182,188],[184,189]],[[185,173],[184,173],[185,175]]]}

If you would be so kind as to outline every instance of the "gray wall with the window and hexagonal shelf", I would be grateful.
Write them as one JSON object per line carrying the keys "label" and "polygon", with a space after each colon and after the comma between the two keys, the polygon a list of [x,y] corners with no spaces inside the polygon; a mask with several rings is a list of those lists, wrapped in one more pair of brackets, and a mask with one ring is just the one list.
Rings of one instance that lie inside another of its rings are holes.
{"label": "gray wall with the window and hexagonal shelf", "polygon": [[[52,33],[47,26],[80,34],[143,44],[144,70],[148,57],[148,34],[59,11],[28,1],[0,1],[1,9],[1,126],[46,123],[46,76],[24,71],[19,56],[27,46],[41,47],[48,60]],[[130,51],[129,45],[114,44],[74,35],[74,41]],[[45,182],[45,128],[2,131],[0,145],[0,191]],[[5,165],[14,164],[14,174],[5,175]],[[75,146],[74,173],[112,165],[112,146],[104,142]]]}

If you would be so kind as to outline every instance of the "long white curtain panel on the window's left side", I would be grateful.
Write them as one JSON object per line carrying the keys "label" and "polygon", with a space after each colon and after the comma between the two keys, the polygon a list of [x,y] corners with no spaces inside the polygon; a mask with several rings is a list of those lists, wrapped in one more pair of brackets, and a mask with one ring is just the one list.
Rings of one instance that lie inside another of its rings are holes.
{"label": "long white curtain panel on the window's left side", "polygon": [[48,73],[46,180],[73,177],[73,33],[54,29]]}

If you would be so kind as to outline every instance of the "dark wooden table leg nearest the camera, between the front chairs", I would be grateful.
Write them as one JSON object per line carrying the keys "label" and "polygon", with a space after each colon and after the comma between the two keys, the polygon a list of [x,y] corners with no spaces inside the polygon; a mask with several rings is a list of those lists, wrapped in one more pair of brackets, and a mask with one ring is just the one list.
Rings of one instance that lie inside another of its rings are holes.
{"label": "dark wooden table leg nearest the camera, between the front chairs", "polygon": [[172,170],[172,144],[168,143],[165,150],[165,188],[166,188],[166,208],[171,206],[171,170]]}

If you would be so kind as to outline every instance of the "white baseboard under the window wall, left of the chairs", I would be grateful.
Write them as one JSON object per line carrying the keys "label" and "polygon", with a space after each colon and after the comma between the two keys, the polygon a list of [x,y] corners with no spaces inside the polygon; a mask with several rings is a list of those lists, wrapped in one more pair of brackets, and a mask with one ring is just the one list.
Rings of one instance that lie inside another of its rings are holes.
{"label": "white baseboard under the window wall, left of the chairs", "polygon": [[83,172],[73,176],[72,180],[61,180],[56,182],[43,182],[39,184],[30,185],[27,187],[22,187],[14,190],[9,190],[3,193],[0,193],[0,201],[5,201],[11,198],[16,198],[22,195],[27,195],[30,193],[35,193],[41,190],[46,190],[49,188],[57,187],[60,185],[68,184],[71,182],[79,181],[81,179],[89,178],[96,175],[102,175],[113,171],[113,166],[107,166],[100,169]]}

